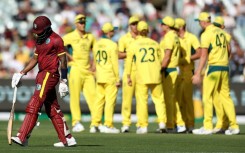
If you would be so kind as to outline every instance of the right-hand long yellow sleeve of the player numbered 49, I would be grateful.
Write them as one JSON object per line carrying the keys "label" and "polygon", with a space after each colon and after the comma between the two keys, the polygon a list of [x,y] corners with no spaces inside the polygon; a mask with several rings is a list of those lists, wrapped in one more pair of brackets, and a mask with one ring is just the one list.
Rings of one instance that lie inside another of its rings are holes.
{"label": "right-hand long yellow sleeve of the player numbered 49", "polygon": [[119,66],[118,66],[118,50],[117,49],[118,49],[117,44],[115,44],[115,46],[111,50],[111,63],[112,63],[113,72],[116,77],[116,81],[120,82]]}

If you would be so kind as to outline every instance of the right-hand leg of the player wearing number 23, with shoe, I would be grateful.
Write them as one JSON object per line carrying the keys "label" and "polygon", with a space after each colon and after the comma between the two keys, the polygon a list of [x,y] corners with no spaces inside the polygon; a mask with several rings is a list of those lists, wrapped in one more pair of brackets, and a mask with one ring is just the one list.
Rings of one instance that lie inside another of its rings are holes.
{"label": "right-hand leg of the player wearing number 23, with shoe", "polygon": [[151,97],[155,104],[157,122],[159,124],[159,132],[163,132],[163,130],[165,131],[167,116],[166,116],[166,105],[163,98],[164,94],[163,94],[162,83],[150,85],[150,88],[151,88]]}

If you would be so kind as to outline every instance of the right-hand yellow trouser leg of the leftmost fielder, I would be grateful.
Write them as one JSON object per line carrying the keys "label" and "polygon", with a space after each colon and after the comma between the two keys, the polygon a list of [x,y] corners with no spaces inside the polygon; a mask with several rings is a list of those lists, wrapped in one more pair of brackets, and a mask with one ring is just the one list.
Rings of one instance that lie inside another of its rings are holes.
{"label": "right-hand yellow trouser leg of the leftmost fielder", "polygon": [[92,74],[86,75],[84,84],[83,84],[83,95],[88,104],[88,108],[90,110],[91,117],[93,116],[93,113],[94,113],[94,103],[95,103],[95,97],[96,97],[95,86],[96,86],[96,83],[95,83],[94,76]]}

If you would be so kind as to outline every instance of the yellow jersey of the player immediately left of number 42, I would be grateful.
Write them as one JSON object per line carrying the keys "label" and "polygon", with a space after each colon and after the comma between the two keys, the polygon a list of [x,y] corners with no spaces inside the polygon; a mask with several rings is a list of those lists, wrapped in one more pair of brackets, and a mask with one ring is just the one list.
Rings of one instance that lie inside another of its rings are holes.
{"label": "yellow jersey of the player immediately left of number 42", "polygon": [[180,40],[180,69],[181,72],[185,70],[194,70],[194,62],[191,60],[191,56],[196,53],[196,50],[200,47],[197,37],[189,32],[185,32],[183,38]]}

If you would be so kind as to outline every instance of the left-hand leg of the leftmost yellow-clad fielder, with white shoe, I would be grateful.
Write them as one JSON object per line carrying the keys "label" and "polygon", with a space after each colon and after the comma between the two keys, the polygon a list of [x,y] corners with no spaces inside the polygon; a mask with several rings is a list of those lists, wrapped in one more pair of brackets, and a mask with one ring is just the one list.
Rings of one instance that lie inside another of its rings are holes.
{"label": "left-hand leg of the leftmost yellow-clad fielder, with white shoe", "polygon": [[[72,116],[72,126],[74,127],[81,121],[80,109],[80,91],[82,88],[82,78],[78,68],[72,66],[69,74],[69,90],[70,90],[70,110]],[[74,129],[75,130],[75,129]],[[75,131],[82,131],[78,129]]]}

